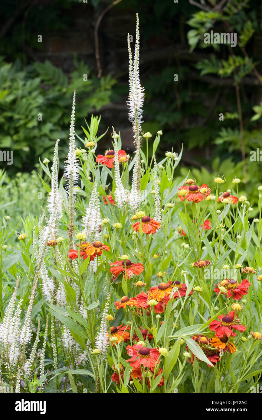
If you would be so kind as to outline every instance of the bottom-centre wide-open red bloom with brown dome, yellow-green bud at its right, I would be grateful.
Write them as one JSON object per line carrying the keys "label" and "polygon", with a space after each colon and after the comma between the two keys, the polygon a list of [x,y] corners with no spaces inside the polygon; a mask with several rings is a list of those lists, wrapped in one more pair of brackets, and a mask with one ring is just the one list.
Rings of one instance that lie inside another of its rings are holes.
{"label": "bottom-centre wide-open red bloom with brown dome, yellow-green bud at its right", "polygon": [[139,367],[141,365],[154,369],[156,362],[160,356],[158,349],[150,349],[143,347],[143,344],[134,344],[127,346],[127,354],[131,356],[126,362],[130,362],[130,366]]}

